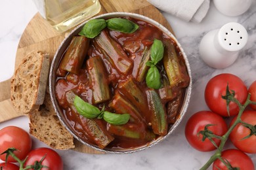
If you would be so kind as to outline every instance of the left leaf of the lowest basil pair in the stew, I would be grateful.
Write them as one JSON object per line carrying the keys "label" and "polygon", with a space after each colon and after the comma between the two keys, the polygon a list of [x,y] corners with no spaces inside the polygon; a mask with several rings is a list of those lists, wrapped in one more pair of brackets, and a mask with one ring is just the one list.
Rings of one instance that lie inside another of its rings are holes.
{"label": "left leaf of the lowest basil pair in the stew", "polygon": [[77,112],[85,118],[96,118],[100,114],[98,107],[83,101],[83,99],[77,95],[75,95],[74,105]]}

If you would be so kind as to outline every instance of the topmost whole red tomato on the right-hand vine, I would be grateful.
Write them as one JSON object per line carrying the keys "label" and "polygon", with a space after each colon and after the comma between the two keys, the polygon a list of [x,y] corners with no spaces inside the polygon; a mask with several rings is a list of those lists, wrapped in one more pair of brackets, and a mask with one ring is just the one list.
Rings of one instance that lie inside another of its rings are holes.
{"label": "topmost whole red tomato on the right-hand vine", "polygon": [[[205,102],[209,109],[221,116],[228,116],[226,100],[221,97],[222,95],[226,95],[227,84],[230,93],[234,90],[234,97],[240,103],[244,103],[247,98],[247,88],[238,76],[223,73],[211,78],[205,87]],[[239,107],[236,103],[230,102],[229,110],[230,116],[233,116],[238,114]]]}

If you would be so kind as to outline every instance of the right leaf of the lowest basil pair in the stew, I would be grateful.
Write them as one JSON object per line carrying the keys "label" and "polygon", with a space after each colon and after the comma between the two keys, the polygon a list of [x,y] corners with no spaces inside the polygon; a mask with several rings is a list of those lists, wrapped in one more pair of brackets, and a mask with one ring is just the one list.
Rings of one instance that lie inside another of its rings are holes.
{"label": "right leaf of the lowest basil pair in the stew", "polygon": [[116,114],[108,111],[104,111],[103,119],[113,125],[126,124],[130,119],[130,114]]}

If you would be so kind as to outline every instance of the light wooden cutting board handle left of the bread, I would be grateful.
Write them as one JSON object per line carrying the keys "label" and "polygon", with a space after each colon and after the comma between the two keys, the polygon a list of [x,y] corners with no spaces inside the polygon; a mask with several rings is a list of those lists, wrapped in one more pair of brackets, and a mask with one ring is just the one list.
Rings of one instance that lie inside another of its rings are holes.
{"label": "light wooden cutting board handle left of the bread", "polygon": [[24,114],[17,112],[11,103],[11,78],[0,82],[0,122],[22,115]]}

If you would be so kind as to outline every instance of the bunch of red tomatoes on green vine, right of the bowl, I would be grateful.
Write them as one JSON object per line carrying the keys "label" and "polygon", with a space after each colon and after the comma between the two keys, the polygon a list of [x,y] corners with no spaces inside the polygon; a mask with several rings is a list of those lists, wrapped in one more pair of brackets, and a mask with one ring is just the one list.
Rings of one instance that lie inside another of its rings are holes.
{"label": "bunch of red tomatoes on green vine, right of the bowl", "polygon": [[[256,80],[247,89],[241,78],[223,73],[207,82],[204,95],[209,110],[193,114],[185,127],[192,147],[216,150],[202,169],[212,163],[213,169],[255,169],[247,154],[256,154]],[[228,139],[236,148],[223,150]]]}

